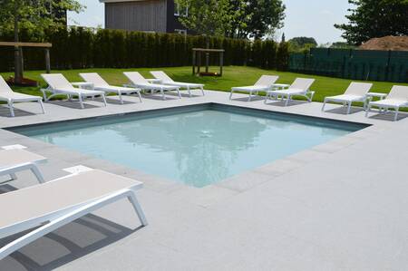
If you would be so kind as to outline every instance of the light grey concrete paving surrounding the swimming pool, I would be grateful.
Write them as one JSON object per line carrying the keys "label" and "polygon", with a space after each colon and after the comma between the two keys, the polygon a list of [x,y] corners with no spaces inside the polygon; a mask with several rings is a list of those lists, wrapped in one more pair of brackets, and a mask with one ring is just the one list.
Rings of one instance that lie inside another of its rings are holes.
{"label": "light grey concrete paving surrounding the swimming pool", "polygon": [[[78,164],[144,182],[138,193],[149,219],[140,227],[123,200],[80,218],[0,261],[0,270],[404,270],[408,266],[408,118],[364,117],[358,108],[318,102],[264,104],[237,94],[125,97],[120,105],[88,101],[19,104],[0,110],[0,128],[207,102],[355,121],[372,126],[203,189],[0,130],[0,146],[22,144],[49,161],[45,179]],[[0,187],[35,185],[30,172]],[[22,203],[24,204],[24,202]],[[3,211],[13,211],[3,207]],[[7,240],[0,240],[5,243]]]}

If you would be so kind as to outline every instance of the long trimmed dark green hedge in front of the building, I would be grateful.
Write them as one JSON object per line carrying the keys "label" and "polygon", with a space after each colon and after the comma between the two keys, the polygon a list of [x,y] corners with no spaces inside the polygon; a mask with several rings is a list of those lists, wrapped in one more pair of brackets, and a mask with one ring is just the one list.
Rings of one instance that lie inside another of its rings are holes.
{"label": "long trimmed dark green hedge in front of the building", "polygon": [[[12,41],[12,33],[0,34],[0,41]],[[205,47],[203,36],[148,34],[120,30],[69,27],[47,31],[44,36],[21,32],[24,42],[49,42],[53,69],[166,67],[191,64],[191,49]],[[211,37],[210,48],[226,50],[225,65],[250,65],[266,69],[287,69],[285,44],[273,41],[238,40]],[[0,47],[0,72],[13,71],[13,48]],[[219,56],[211,54],[217,65]],[[24,48],[24,69],[44,69],[44,52]]]}

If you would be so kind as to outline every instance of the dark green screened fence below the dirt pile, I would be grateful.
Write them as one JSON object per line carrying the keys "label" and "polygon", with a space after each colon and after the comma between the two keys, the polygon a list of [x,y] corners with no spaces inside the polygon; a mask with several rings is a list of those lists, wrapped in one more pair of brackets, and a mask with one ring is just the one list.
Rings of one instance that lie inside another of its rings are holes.
{"label": "dark green screened fence below the dirt pile", "polygon": [[408,52],[314,48],[292,53],[289,71],[366,81],[408,82]]}

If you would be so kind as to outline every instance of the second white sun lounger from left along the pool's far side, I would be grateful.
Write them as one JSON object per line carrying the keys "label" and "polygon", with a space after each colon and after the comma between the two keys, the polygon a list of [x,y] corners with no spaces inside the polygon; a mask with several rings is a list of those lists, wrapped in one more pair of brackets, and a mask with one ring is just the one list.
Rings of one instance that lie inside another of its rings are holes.
{"label": "second white sun lounger from left along the pool's far side", "polygon": [[[45,102],[59,94],[66,95],[70,100],[72,100],[73,96],[78,96],[81,108],[83,109],[84,98],[92,97],[93,99],[96,96],[102,96],[103,103],[106,106],[105,92],[75,88],[61,73],[43,73],[41,76],[44,78],[45,82],[48,83],[48,88],[41,89]],[[52,92],[52,95],[47,97],[46,92]]]}

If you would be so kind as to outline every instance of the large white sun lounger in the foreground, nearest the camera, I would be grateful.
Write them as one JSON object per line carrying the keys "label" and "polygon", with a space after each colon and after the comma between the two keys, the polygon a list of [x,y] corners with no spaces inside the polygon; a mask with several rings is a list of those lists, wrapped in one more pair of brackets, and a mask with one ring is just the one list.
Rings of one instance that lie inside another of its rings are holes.
{"label": "large white sun lounger in the foreground, nearest the camera", "polygon": [[0,260],[53,230],[122,198],[128,198],[146,226],[135,191],[142,183],[102,170],[68,175],[44,184],[0,195],[0,206],[12,207],[0,217],[0,238],[33,229],[0,248]]}

